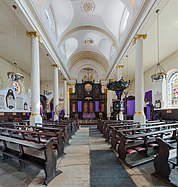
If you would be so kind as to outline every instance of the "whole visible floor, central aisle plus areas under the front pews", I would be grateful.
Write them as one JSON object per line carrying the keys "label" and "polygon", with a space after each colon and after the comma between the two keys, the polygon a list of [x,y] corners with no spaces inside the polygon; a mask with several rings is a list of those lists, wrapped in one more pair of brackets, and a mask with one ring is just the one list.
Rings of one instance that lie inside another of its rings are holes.
{"label": "whole visible floor, central aisle plus areas under the front pews", "polygon": [[[81,126],[64,152],[57,161],[59,175],[48,184],[49,187],[171,186],[151,175],[153,162],[132,169],[122,166],[96,126]],[[13,159],[9,162],[1,163],[1,186],[44,186],[42,170],[29,166],[24,172],[18,172],[16,162]]]}

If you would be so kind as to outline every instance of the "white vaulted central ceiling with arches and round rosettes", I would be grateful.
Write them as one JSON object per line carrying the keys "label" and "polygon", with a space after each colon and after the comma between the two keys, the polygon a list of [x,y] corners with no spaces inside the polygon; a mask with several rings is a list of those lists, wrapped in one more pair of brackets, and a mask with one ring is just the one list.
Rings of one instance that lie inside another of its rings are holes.
{"label": "white vaulted central ceiling with arches and round rosettes", "polygon": [[77,60],[87,59],[84,57],[87,55],[95,61],[96,66],[102,65],[107,73],[110,72],[117,63],[115,57],[122,42],[146,0],[30,2],[45,25],[62,59],[60,63],[67,67],[65,70],[70,77],[71,67],[75,66]]}

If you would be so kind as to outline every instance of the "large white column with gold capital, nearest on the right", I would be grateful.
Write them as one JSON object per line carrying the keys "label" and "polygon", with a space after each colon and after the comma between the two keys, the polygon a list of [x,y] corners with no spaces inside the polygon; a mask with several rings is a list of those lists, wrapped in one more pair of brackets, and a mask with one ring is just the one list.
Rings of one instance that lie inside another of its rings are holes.
{"label": "large white column with gold capital, nearest on the right", "polygon": [[134,121],[144,124],[146,117],[144,114],[144,72],[143,72],[143,37],[137,35],[135,54],[135,115]]}

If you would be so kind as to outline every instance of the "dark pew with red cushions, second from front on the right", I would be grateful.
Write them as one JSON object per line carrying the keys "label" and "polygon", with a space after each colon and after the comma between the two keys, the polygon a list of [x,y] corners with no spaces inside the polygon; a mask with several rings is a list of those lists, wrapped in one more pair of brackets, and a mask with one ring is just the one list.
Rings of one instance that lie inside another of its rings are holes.
{"label": "dark pew with red cushions, second from front on the right", "polygon": [[[147,127],[147,129],[148,128],[149,127]],[[155,143],[156,138],[154,137],[154,135],[163,138],[163,135],[168,132],[172,133],[172,137],[169,137],[171,141],[175,141],[176,128],[172,127],[161,129],[159,131],[156,130],[132,135],[124,134],[122,131],[119,132],[119,158],[130,167],[138,166],[140,164],[153,160],[154,155],[157,153],[157,150],[153,149],[153,147],[149,147],[149,144]]]}

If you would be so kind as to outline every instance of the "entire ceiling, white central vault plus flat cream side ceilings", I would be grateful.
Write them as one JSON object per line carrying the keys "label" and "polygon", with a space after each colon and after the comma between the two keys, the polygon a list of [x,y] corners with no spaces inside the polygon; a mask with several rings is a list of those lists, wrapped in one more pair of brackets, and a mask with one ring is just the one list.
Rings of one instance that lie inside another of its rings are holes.
{"label": "entire ceiling, white central vault plus flat cream side ceilings", "polygon": [[[13,63],[16,57],[19,67],[30,75],[31,42],[25,33],[26,31],[36,30],[43,38],[43,43],[40,44],[42,81],[52,80],[52,63],[59,65],[66,79],[77,79],[78,73],[87,67],[97,72],[98,80],[112,78],[112,74],[113,76],[116,75],[117,72],[114,71],[116,65],[120,63],[124,64],[124,77],[128,76],[128,79],[133,80],[135,45],[129,45],[129,39],[132,39],[136,32],[148,34],[148,38],[144,40],[144,71],[149,71],[157,63],[155,15],[157,8],[161,10],[159,14],[160,61],[164,62],[165,59],[177,55],[177,0],[118,0],[120,4],[125,6],[121,19],[114,18],[113,15],[116,16],[116,12],[114,13],[115,7],[113,9],[109,7],[109,3],[115,3],[116,6],[118,3],[116,0],[93,0],[95,8],[94,10],[89,9],[91,13],[82,10],[83,2],[86,1],[0,1],[0,57],[10,63]],[[156,3],[148,6],[149,2]],[[15,3],[18,6],[15,11],[16,24],[14,24],[12,8]],[[110,11],[105,10],[107,5]],[[58,8],[58,6],[60,7]],[[119,7],[117,10],[119,11]],[[128,16],[125,10],[129,12],[128,20],[127,22],[120,22],[119,20],[126,20],[125,17]],[[139,10],[141,11],[139,12]],[[60,11],[60,13],[56,11]],[[114,19],[118,22],[118,34],[113,29],[116,27],[111,26],[116,22],[103,20],[103,16],[106,16],[104,14],[107,14],[108,19]],[[140,21],[139,18],[143,21]],[[16,45],[14,25],[16,25],[17,31]],[[132,27],[130,25],[133,27],[136,25],[137,27],[135,30],[134,28],[129,30],[129,27]],[[125,43],[122,43],[122,41]],[[14,46],[16,46],[15,50]],[[14,55],[14,53],[16,54]],[[126,58],[126,54],[128,58]]]}

